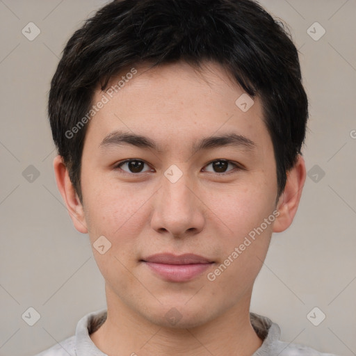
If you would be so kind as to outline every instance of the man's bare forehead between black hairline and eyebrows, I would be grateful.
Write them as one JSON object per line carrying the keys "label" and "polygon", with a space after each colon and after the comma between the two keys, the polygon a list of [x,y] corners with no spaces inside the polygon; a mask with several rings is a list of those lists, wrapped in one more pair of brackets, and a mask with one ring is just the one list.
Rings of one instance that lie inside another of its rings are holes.
{"label": "man's bare forehead between black hairline and eyebrows", "polygon": [[125,129],[168,147],[176,139],[232,131],[258,145],[269,137],[260,99],[252,100],[231,78],[217,63],[200,70],[184,62],[127,67],[104,92],[96,90],[92,103],[106,97],[106,104],[90,121],[87,135],[103,139]]}

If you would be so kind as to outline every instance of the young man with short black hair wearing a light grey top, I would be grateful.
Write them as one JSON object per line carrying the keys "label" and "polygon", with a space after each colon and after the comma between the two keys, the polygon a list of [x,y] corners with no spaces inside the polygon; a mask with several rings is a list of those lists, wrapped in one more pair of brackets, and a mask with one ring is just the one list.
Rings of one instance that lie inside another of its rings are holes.
{"label": "young man with short black hair wearing a light grey top", "polygon": [[113,1],[51,81],[54,170],[107,310],[58,355],[327,355],[250,313],[305,182],[298,52],[250,0]]}

